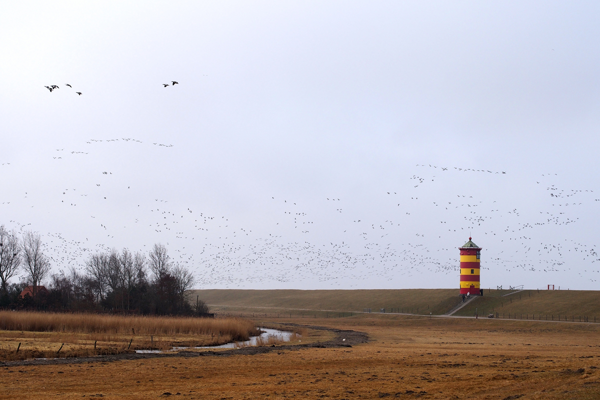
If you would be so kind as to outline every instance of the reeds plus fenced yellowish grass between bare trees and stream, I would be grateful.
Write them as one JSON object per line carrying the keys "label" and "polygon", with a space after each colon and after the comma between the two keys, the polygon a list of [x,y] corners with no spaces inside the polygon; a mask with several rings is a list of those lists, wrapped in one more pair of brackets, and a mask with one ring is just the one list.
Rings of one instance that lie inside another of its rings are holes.
{"label": "reeds plus fenced yellowish grass between bare trees and stream", "polygon": [[244,318],[0,311],[0,360],[80,357],[211,346],[257,335]]}

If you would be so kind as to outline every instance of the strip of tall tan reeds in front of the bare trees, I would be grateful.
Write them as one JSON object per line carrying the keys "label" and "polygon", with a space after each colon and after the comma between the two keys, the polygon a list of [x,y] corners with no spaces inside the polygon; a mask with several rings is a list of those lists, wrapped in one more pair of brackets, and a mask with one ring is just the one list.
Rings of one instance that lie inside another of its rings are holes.
{"label": "strip of tall tan reeds in front of the bare trees", "polygon": [[215,335],[235,341],[256,335],[242,318],[154,317],[55,312],[0,311],[0,330],[28,332],[115,333],[122,335]]}

